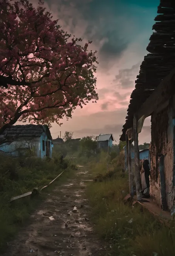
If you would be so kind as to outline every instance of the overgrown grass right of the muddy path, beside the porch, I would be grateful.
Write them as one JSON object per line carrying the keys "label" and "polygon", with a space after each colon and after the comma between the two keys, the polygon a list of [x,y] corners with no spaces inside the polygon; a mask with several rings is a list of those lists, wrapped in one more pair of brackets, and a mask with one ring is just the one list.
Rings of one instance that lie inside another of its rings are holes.
{"label": "overgrown grass right of the muddy path, beside the porch", "polygon": [[91,165],[93,176],[102,173],[104,179],[89,184],[86,193],[96,232],[109,244],[108,255],[174,255],[174,223],[167,227],[140,205],[124,204],[123,198],[128,193],[128,176],[121,172],[121,168],[115,167],[114,175],[106,179],[105,161],[103,156],[98,163],[93,163],[93,167]]}

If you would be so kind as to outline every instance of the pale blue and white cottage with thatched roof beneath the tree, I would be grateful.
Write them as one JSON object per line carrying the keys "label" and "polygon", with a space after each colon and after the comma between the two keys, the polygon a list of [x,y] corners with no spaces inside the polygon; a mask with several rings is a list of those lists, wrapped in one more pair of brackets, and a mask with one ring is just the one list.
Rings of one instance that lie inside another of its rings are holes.
{"label": "pale blue and white cottage with thatched roof beneath the tree", "polygon": [[47,125],[13,125],[0,135],[0,152],[14,157],[32,154],[52,157],[52,136]]}

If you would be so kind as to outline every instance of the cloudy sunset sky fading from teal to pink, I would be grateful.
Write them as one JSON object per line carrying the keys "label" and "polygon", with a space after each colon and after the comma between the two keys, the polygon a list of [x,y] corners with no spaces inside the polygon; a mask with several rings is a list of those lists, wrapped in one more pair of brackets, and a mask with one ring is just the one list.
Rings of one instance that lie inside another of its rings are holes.
{"label": "cloudy sunset sky fading from teal to pink", "polygon": [[[35,0],[36,1],[36,0]],[[36,2],[32,0],[35,5]],[[152,34],[159,0],[45,0],[62,29],[83,42],[92,40],[97,50],[97,103],[77,108],[72,119],[62,120],[62,126],[53,123],[53,139],[73,132],[74,138],[100,133],[113,133],[119,142],[122,126],[134,81],[140,64],[148,52],[146,47]],[[150,142],[150,118],[139,134],[139,143]],[[116,143],[115,142],[115,143]]]}

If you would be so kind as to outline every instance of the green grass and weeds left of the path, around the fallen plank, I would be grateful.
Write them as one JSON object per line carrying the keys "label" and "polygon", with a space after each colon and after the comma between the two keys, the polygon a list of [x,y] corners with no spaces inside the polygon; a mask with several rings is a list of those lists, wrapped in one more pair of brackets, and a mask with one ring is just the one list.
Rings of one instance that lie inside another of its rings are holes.
{"label": "green grass and weeds left of the path, around the fallen plank", "polygon": [[[0,252],[3,252],[8,241],[25,224],[31,212],[45,198],[47,192],[73,175],[73,168],[68,160],[60,163],[59,156],[51,161],[35,157],[22,160],[3,156],[0,157],[0,163]],[[11,197],[32,191],[33,188],[40,190],[64,169],[64,173],[58,180],[42,191],[40,196],[10,202]]]}

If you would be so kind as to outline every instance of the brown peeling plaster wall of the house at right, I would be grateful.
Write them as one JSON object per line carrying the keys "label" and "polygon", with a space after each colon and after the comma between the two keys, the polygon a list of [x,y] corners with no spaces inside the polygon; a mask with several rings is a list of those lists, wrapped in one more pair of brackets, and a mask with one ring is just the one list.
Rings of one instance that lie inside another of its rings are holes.
{"label": "brown peeling plaster wall of the house at right", "polygon": [[173,105],[169,105],[159,113],[151,116],[151,174],[150,174],[150,195],[159,206],[161,200],[161,182],[158,167],[158,154],[164,157],[164,176],[167,206],[169,210],[174,208],[174,187],[173,187]]}

